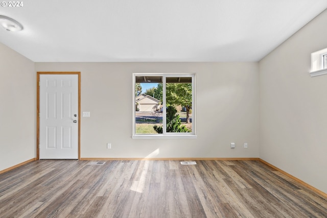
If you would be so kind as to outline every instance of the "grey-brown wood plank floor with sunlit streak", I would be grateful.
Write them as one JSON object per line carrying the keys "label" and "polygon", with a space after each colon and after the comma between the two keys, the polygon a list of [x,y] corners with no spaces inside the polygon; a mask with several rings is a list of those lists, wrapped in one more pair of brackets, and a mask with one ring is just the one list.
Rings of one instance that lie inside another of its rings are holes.
{"label": "grey-brown wood plank floor with sunlit streak", "polygon": [[327,199],[256,160],[39,160],[0,175],[0,217],[327,217]]}

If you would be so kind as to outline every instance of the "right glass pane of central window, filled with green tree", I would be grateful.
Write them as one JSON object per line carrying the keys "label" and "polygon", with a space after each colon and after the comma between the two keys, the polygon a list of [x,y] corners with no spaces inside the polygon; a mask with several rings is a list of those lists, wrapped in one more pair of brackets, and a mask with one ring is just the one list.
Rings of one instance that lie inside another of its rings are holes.
{"label": "right glass pane of central window, filled with green tree", "polygon": [[192,77],[166,78],[167,132],[192,132]]}

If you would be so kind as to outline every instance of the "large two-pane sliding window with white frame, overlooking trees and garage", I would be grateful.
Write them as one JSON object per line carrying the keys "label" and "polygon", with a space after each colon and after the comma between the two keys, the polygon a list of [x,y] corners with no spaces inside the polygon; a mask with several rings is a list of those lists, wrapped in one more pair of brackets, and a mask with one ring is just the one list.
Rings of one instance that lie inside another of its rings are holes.
{"label": "large two-pane sliding window with white frame, overlooking trees and garage", "polygon": [[195,74],[133,74],[133,138],[195,138]]}

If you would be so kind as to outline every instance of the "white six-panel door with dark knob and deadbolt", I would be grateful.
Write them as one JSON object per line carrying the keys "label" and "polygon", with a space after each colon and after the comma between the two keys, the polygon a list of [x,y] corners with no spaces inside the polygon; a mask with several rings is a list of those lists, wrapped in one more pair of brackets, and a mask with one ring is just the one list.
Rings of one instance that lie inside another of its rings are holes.
{"label": "white six-panel door with dark knob and deadbolt", "polygon": [[78,75],[40,75],[40,159],[78,159]]}

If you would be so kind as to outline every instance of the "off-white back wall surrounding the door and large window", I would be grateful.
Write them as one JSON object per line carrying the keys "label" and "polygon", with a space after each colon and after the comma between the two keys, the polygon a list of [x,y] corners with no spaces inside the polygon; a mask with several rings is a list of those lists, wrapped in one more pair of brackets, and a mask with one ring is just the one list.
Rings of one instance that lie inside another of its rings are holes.
{"label": "off-white back wall surrounding the door and large window", "polygon": [[[82,158],[259,157],[258,63],[35,63],[35,67],[81,71],[81,110],[91,114],[81,120]],[[131,138],[133,72],[196,73],[197,139]],[[112,149],[106,149],[107,142]],[[230,149],[230,142],[236,149]]]}

